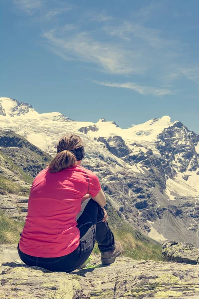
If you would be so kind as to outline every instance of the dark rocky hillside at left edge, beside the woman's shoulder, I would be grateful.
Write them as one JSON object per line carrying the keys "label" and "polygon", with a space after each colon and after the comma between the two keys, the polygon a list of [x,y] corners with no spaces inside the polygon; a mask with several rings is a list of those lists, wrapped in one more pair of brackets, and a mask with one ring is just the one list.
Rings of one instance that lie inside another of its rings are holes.
{"label": "dark rocky hillside at left edge, beside the woman's shoulder", "polygon": [[[0,130],[0,194],[28,196],[33,178],[50,159],[47,153],[20,135]],[[9,199],[11,202],[11,197]],[[0,200],[0,207],[3,202]]]}

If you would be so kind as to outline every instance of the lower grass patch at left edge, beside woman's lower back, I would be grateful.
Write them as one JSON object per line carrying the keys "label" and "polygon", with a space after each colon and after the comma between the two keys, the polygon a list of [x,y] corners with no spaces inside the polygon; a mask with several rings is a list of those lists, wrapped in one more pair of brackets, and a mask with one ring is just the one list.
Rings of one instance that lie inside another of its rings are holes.
{"label": "lower grass patch at left edge, beside woman's lower back", "polygon": [[24,222],[14,221],[0,210],[0,244],[18,244],[23,226]]}

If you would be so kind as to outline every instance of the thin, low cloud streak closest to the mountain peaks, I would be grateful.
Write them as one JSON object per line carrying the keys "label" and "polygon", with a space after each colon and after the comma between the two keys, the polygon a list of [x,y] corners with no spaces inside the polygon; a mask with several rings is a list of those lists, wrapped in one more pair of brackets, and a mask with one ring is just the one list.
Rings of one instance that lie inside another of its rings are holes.
{"label": "thin, low cloud streak closest to the mountain peaks", "polygon": [[165,95],[173,95],[175,92],[171,91],[168,88],[157,88],[151,86],[144,86],[139,85],[135,82],[126,82],[126,83],[111,83],[111,82],[99,82],[96,80],[92,80],[93,83],[97,83],[103,86],[110,86],[110,87],[118,87],[118,88],[128,88],[132,89],[140,94],[143,95],[153,95],[153,96],[165,96]]}

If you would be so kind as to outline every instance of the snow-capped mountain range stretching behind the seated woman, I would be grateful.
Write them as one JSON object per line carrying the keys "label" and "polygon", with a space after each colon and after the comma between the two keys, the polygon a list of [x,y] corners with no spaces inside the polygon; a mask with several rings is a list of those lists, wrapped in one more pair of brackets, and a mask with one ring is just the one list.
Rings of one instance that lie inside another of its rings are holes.
{"label": "snow-capped mountain range stretching behind the seated woman", "polygon": [[85,143],[83,165],[99,176],[118,214],[156,240],[199,246],[199,135],[169,116],[128,129],[100,119],[76,122],[61,113],[0,98],[0,129],[54,155],[67,132]]}

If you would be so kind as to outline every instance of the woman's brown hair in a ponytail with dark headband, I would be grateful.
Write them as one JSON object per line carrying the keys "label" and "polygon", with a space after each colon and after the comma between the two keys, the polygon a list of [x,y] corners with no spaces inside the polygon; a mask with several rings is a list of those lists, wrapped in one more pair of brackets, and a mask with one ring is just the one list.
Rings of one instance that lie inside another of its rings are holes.
{"label": "woman's brown hair in a ponytail with dark headband", "polygon": [[67,134],[60,138],[57,144],[57,155],[49,164],[50,172],[59,172],[77,165],[84,157],[84,145],[81,138],[75,134]]}

